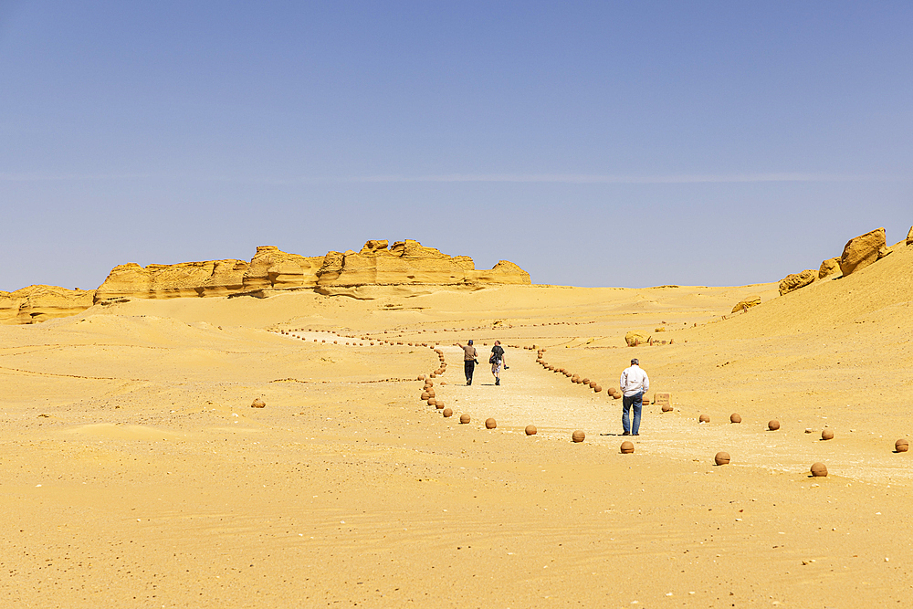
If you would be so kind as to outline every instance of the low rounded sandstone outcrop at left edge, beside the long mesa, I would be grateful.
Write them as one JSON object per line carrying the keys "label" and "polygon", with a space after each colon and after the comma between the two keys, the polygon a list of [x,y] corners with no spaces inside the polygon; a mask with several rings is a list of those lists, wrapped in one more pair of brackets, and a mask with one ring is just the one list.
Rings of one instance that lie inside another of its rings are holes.
{"label": "low rounded sandstone outcrop at left edge, beside the long mesa", "polygon": [[28,286],[15,292],[0,292],[0,323],[37,323],[68,317],[89,309],[94,289]]}

